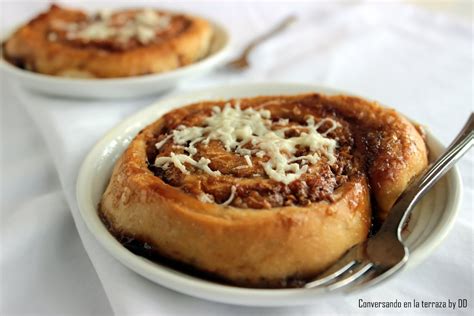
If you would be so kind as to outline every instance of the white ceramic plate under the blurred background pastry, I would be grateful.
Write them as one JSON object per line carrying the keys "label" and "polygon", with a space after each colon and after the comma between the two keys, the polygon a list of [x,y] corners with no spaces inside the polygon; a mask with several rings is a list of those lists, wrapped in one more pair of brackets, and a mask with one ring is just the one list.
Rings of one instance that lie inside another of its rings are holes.
{"label": "white ceramic plate under the blurred background pastry", "polygon": [[229,53],[229,34],[219,24],[211,23],[215,36],[208,56],[193,64],[161,74],[112,79],[65,78],[24,70],[3,58],[0,59],[0,69],[21,85],[49,95],[113,99],[158,94],[182,81],[205,75],[225,61]]}

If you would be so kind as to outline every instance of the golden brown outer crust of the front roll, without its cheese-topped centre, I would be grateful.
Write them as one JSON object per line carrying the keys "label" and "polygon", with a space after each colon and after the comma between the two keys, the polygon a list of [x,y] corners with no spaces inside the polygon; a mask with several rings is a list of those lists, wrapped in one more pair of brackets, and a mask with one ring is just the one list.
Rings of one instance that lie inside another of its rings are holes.
{"label": "golden brown outer crust of the front roll, without its cheese-topped centre", "polygon": [[[277,101],[278,106],[272,108],[269,101]],[[194,192],[165,183],[148,165],[150,140],[157,133],[223,102],[190,105],[145,128],[118,160],[100,207],[117,237],[146,242],[166,257],[234,284],[278,286],[290,278],[315,276],[366,239],[371,225],[370,194],[383,218],[407,182],[426,166],[426,148],[413,126],[395,111],[374,103],[318,94],[259,97],[241,103],[243,107],[267,103],[272,118],[277,113],[281,117],[281,110],[286,109],[295,117],[311,113],[337,119],[354,138],[350,157],[354,170],[344,173],[346,179],[330,198],[307,205],[245,208],[203,203]],[[380,141],[370,144],[375,140]],[[225,163],[214,166],[221,167]],[[242,181],[231,177],[236,185]],[[227,185],[216,181],[221,187]],[[269,180],[262,176],[255,181]]]}

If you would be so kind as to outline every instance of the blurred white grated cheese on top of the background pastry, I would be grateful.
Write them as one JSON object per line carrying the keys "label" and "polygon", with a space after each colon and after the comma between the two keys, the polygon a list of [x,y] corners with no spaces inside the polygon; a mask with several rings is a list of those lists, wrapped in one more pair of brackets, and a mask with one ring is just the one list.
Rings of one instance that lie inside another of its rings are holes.
{"label": "blurred white grated cheese on top of the background pastry", "polygon": [[69,40],[128,42],[134,38],[145,45],[153,42],[157,32],[166,29],[170,22],[170,15],[159,14],[152,9],[138,11],[131,17],[101,11],[87,23],[67,24],[65,30]]}

